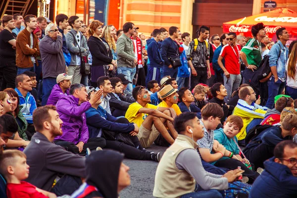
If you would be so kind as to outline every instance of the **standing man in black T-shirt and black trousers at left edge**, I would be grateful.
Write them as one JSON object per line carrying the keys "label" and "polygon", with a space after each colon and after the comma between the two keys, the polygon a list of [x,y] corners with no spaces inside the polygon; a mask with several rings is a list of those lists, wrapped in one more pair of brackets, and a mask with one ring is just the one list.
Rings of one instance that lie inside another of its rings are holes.
{"label": "standing man in black T-shirt and black trousers at left edge", "polygon": [[0,73],[3,76],[1,90],[15,88],[15,46],[16,37],[12,33],[15,29],[13,16],[5,15],[2,18],[4,30],[0,32]]}

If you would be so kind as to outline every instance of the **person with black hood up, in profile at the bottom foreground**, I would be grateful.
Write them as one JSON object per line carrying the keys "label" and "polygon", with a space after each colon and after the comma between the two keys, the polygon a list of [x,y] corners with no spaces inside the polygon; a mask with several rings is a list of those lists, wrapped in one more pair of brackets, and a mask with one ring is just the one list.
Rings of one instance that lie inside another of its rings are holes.
{"label": "person with black hood up, in profile at the bottom foreground", "polygon": [[86,159],[86,182],[71,198],[118,198],[119,192],[131,183],[130,168],[123,159],[123,154],[113,150],[92,152]]}

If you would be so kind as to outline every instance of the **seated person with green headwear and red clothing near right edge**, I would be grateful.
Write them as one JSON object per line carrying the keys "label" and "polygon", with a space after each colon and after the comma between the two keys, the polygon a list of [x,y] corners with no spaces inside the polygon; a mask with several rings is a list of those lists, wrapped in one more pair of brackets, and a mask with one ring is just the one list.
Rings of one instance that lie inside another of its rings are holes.
{"label": "seated person with green headwear and red clothing near right edge", "polygon": [[278,95],[275,97],[275,108],[268,109],[261,125],[274,125],[280,122],[281,112],[285,107],[294,107],[294,100],[286,95]]}

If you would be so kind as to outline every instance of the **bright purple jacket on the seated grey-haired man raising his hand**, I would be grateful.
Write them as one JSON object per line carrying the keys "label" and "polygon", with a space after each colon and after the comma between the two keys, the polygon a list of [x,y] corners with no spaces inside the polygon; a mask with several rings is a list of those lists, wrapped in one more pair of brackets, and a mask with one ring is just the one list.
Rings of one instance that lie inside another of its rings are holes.
{"label": "bright purple jacket on the seated grey-haired man raising his hand", "polygon": [[72,95],[58,100],[56,108],[63,121],[63,134],[54,140],[67,141],[75,145],[88,142],[89,130],[85,112],[91,108],[91,103],[86,101],[78,105],[78,102],[79,99]]}

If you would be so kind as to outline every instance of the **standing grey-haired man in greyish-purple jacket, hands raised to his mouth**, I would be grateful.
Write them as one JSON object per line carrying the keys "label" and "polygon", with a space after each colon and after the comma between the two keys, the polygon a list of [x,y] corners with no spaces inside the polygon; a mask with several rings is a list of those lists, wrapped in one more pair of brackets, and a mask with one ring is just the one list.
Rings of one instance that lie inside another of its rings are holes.
{"label": "standing grey-haired man in greyish-purple jacket, hands raised to his mouth", "polygon": [[43,106],[48,102],[50,92],[56,84],[57,76],[66,72],[62,46],[62,34],[55,24],[49,24],[46,28],[46,36],[40,41],[43,71]]}

